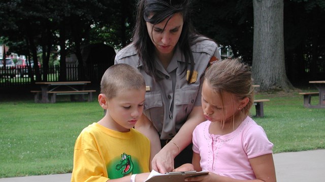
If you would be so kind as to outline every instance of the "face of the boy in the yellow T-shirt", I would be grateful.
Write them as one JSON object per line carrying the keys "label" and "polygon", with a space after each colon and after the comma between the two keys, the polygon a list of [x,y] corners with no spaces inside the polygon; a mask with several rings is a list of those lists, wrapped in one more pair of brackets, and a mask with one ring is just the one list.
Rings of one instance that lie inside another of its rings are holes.
{"label": "face of the boy in the yellow T-shirt", "polygon": [[143,112],[145,93],[145,89],[122,89],[107,101],[110,129],[127,132],[134,127]]}

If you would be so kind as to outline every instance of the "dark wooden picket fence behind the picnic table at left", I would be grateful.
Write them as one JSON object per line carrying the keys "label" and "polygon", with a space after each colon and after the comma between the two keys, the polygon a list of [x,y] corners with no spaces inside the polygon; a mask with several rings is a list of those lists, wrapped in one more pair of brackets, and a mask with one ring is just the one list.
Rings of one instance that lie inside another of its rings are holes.
{"label": "dark wooden picket fence behind the picnic table at left", "polygon": [[[43,71],[43,66],[41,66],[40,73],[42,81],[45,80],[42,74]],[[59,74],[59,66],[49,66],[47,81],[59,81]],[[82,78],[79,79],[77,65],[67,65],[66,81],[91,81],[92,83],[99,83],[103,74],[102,70],[98,69],[97,65],[94,65],[82,70]],[[34,79],[30,77],[34,77]],[[34,68],[31,70],[22,67],[0,68],[0,87],[31,85],[33,80],[36,80]]]}

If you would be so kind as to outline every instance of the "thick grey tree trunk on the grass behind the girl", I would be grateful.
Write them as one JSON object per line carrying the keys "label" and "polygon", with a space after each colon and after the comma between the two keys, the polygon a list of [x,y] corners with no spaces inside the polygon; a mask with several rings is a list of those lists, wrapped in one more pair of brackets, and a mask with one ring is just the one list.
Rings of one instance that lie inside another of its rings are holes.
{"label": "thick grey tree trunk on the grass behind the girl", "polygon": [[253,0],[253,9],[254,84],[261,90],[292,88],[285,73],[283,0]]}

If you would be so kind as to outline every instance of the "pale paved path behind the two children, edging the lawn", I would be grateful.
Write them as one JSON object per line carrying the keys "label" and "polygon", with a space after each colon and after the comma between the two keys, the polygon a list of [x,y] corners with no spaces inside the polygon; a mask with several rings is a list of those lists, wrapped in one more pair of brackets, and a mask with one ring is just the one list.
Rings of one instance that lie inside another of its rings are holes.
{"label": "pale paved path behind the two children, edging the lawn", "polygon": [[[325,181],[325,150],[274,154],[278,182]],[[71,173],[0,178],[0,182],[69,182]]]}

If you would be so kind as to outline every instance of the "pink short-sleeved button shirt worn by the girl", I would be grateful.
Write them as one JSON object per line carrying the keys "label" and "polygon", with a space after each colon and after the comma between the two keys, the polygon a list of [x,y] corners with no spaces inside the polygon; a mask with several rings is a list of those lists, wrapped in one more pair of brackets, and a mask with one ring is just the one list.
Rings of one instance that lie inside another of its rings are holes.
{"label": "pink short-sleeved button shirt worn by the girl", "polygon": [[211,121],[193,131],[193,152],[200,154],[202,170],[236,179],[255,179],[248,159],[272,154],[273,144],[264,129],[249,116],[225,135],[209,133]]}

